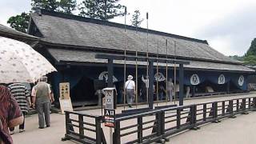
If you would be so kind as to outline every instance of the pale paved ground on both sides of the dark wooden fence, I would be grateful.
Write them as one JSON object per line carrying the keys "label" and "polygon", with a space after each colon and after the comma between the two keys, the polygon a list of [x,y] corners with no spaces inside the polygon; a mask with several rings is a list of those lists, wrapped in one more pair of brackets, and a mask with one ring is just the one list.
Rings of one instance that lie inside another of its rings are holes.
{"label": "pale paved ground on both sides of the dark wooden fence", "polygon": [[[233,98],[244,98],[254,96],[251,94],[239,94],[236,96],[222,96],[218,98],[200,98],[190,99],[184,102],[185,105],[200,102],[213,102]],[[173,104],[174,102],[172,102]],[[163,102],[158,105],[166,105]],[[145,107],[145,106],[138,106]],[[123,107],[118,107],[118,112],[123,110]],[[86,110],[90,114],[101,114],[101,110]],[[62,142],[61,138],[65,134],[65,117],[63,114],[51,114],[51,127],[42,130],[38,129],[38,115],[34,114],[26,118],[26,131],[23,133],[15,133],[13,135],[14,143],[17,144],[58,144],[58,143],[76,143],[72,141]],[[178,134],[170,138],[170,143],[174,144],[214,144],[214,143],[254,143],[256,133],[256,112],[247,115],[238,115],[238,118],[227,118],[221,123],[211,123],[206,126],[201,126],[201,130],[188,130],[182,134]],[[17,128],[16,128],[17,129]],[[17,131],[17,130],[16,130]],[[104,133],[109,134],[104,130]],[[108,136],[106,140],[108,141]]]}

